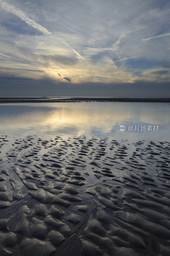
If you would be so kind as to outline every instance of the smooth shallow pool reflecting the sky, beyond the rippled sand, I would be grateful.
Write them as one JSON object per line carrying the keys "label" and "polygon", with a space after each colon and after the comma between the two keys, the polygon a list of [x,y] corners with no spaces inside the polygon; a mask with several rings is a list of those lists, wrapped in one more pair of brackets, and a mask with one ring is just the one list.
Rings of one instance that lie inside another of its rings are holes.
{"label": "smooth shallow pool reflecting the sky, beyond the rippled sand", "polygon": [[[168,103],[79,102],[0,104],[1,134],[96,134],[168,139]],[[158,132],[120,132],[120,124],[159,125]]]}

